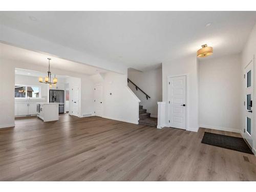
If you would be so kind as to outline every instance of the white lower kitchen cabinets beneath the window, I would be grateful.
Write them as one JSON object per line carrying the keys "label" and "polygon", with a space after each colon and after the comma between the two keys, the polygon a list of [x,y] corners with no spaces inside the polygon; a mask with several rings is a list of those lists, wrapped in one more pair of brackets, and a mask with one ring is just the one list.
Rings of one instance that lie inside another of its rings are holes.
{"label": "white lower kitchen cabinets beneath the window", "polygon": [[36,114],[36,103],[15,103],[15,116],[26,116]]}

